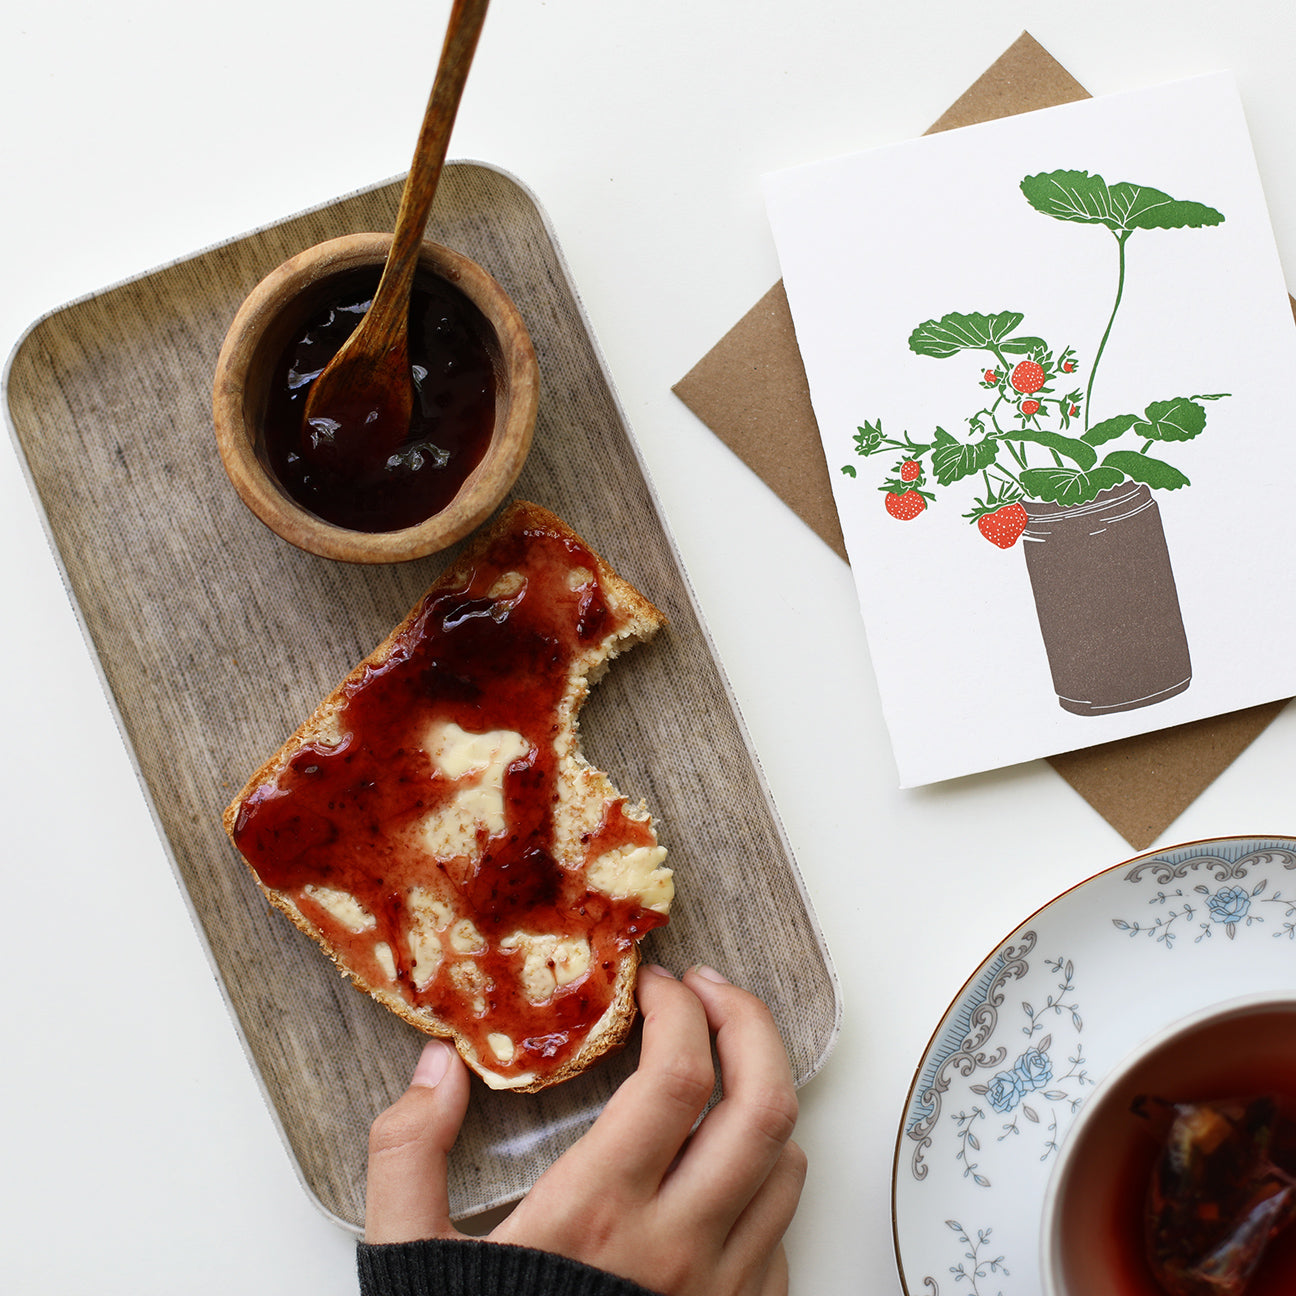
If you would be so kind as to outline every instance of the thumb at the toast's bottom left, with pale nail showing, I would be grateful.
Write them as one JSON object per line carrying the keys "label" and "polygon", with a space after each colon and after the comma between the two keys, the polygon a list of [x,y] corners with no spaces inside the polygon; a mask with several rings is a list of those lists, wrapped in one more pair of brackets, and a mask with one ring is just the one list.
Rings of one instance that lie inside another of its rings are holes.
{"label": "thumb at the toast's bottom left, with pale nail showing", "polygon": [[424,1045],[410,1087],[369,1129],[364,1240],[455,1236],[446,1160],[468,1109],[468,1068],[443,1039]]}

